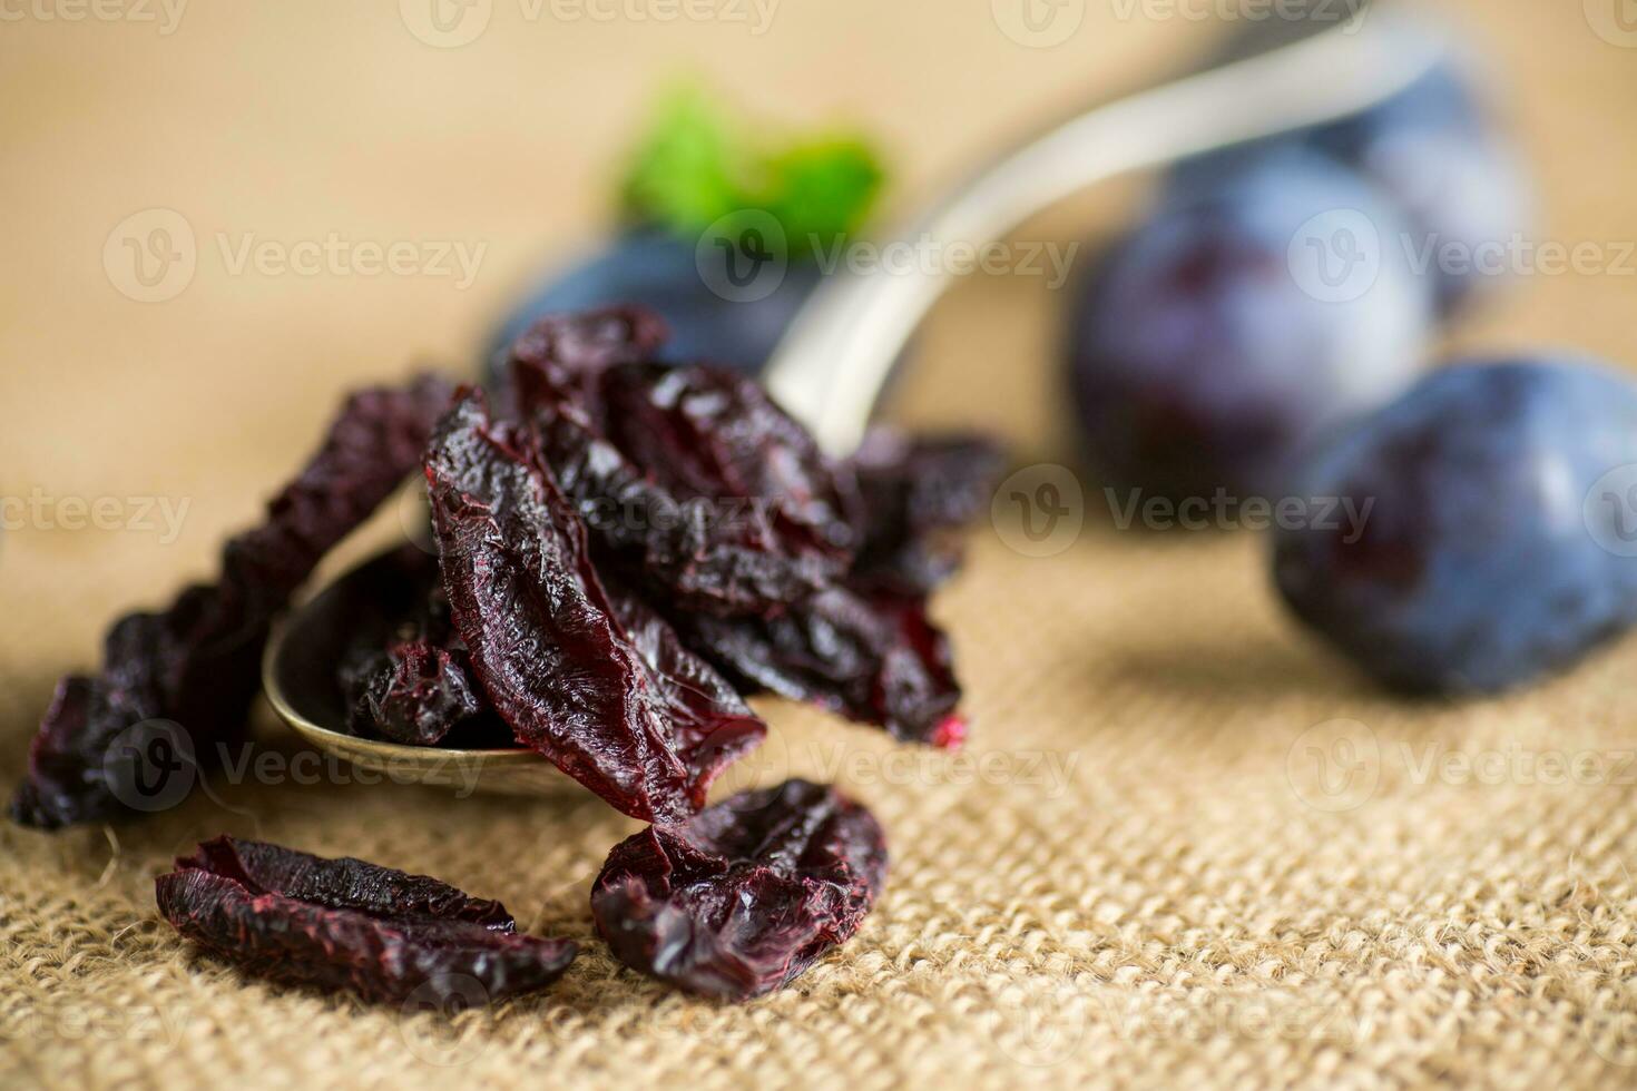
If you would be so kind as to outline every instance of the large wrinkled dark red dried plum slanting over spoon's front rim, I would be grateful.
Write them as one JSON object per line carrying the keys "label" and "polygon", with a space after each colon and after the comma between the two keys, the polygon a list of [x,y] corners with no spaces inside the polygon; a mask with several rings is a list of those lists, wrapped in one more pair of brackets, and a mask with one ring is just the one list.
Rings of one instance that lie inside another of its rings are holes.
{"label": "large wrinkled dark red dried plum slanting over spoon's front rim", "polygon": [[426,474],[455,628],[517,741],[634,818],[697,811],[766,725],[702,684],[712,669],[661,640],[660,618],[632,636],[534,438],[491,424],[480,393],[439,425]]}

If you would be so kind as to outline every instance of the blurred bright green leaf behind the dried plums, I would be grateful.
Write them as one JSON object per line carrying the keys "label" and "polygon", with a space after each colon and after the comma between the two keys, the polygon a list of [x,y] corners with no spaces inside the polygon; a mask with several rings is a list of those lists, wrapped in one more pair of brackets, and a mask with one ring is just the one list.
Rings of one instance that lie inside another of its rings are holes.
{"label": "blurred bright green leaf behind the dried plums", "polygon": [[886,172],[859,136],[753,139],[697,88],[671,92],[637,144],[622,186],[629,219],[678,234],[764,211],[784,231],[792,257],[858,231]]}

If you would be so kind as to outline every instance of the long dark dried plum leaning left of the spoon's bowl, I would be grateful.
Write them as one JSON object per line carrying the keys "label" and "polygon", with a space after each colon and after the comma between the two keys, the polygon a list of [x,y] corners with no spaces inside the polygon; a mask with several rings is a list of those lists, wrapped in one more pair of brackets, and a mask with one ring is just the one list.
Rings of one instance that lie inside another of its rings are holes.
{"label": "long dark dried plum leaning left of the spoon's bowl", "polygon": [[450,389],[426,376],[354,394],[322,448],[267,507],[267,522],[228,541],[221,579],[183,590],[162,613],[113,625],[95,677],[59,685],[29,752],[11,818],[39,828],[131,813],[105,764],[123,731],[172,720],[208,764],[244,731],[273,617],[319,559],[362,523],[421,460]]}

